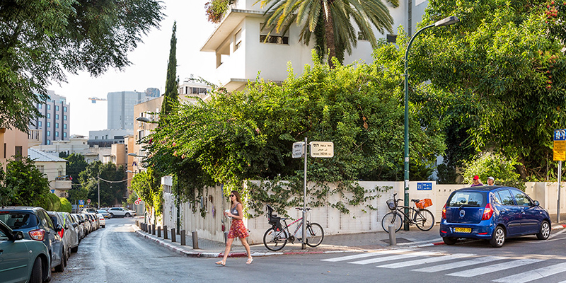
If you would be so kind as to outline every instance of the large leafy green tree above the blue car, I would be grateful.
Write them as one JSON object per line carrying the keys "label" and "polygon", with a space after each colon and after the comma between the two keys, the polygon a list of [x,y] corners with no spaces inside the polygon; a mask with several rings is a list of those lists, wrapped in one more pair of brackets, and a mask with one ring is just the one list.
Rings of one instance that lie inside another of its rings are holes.
{"label": "large leafy green tree above the blue car", "polygon": [[461,19],[424,33],[410,56],[411,84],[436,102],[429,109],[464,125],[457,131],[468,137],[449,148],[466,141],[516,160],[522,180],[555,171],[553,129],[566,123],[565,12],[554,1],[429,2],[422,25]]}

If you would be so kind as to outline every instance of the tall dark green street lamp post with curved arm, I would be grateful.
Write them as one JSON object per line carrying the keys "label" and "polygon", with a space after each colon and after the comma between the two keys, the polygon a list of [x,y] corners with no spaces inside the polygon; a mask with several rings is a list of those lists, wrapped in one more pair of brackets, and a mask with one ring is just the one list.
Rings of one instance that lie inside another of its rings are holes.
{"label": "tall dark green street lamp post with curved arm", "polygon": [[[454,23],[458,23],[458,18],[456,16],[450,16],[448,18],[443,18],[432,25],[427,25],[424,28],[418,30],[414,35],[412,35],[411,39],[409,40],[409,44],[407,45],[407,50],[405,50],[405,158],[404,158],[404,167],[405,167],[405,207],[409,206],[409,74],[408,74],[408,61],[407,58],[409,57],[409,50],[412,45],[412,40],[415,40],[415,37],[422,33],[422,31],[426,30],[427,28],[432,27],[439,27],[444,25],[452,25]],[[405,208],[405,214],[409,215],[409,209]],[[409,223],[405,221],[405,226],[403,230],[409,230]]]}

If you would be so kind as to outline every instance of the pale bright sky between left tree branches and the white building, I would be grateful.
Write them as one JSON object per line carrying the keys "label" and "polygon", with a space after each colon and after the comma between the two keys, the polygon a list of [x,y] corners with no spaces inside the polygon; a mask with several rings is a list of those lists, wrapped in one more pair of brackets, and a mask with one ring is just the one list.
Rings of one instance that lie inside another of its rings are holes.
{"label": "pale bright sky between left tree branches and the white building", "polygon": [[88,131],[106,129],[107,102],[92,103],[88,98],[106,98],[113,91],[145,91],[159,88],[165,92],[167,62],[171,47],[173,21],[177,21],[177,76],[180,82],[191,74],[218,83],[214,71],[213,52],[200,52],[214,31],[207,21],[204,4],[209,0],[162,0],[165,14],[161,28],[154,28],[142,37],[138,47],[128,54],[132,64],[123,69],[109,69],[91,77],[86,72],[68,75],[67,83],[54,83],[47,88],[67,98],[71,105],[70,134],[88,136]]}

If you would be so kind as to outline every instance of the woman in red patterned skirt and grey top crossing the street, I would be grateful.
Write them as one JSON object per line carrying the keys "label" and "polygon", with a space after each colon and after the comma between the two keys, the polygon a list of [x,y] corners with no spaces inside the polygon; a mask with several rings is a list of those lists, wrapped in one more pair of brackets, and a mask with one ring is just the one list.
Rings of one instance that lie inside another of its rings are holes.
{"label": "woman in red patterned skirt and grey top crossing the street", "polygon": [[224,250],[224,258],[222,260],[217,261],[217,265],[226,265],[226,258],[228,258],[228,254],[230,253],[230,249],[232,247],[232,242],[234,238],[240,238],[242,245],[246,248],[246,252],[248,252],[248,261],[246,261],[246,265],[250,265],[253,262],[252,255],[250,253],[250,245],[248,245],[248,241],[246,241],[246,237],[250,236],[248,233],[248,229],[246,226],[243,225],[243,205],[241,204],[242,200],[240,198],[240,194],[233,190],[230,192],[230,202],[231,208],[229,211],[224,212],[226,216],[232,217],[232,224],[230,225],[230,231],[228,233],[228,240],[226,241],[226,250]]}

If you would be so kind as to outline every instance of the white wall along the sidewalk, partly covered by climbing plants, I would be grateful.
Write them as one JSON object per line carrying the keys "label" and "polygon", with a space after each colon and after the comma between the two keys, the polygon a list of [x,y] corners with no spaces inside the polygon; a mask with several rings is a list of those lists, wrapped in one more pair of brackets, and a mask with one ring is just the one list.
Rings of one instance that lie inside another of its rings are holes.
{"label": "white wall along the sidewalk, partly covered by climbing plants", "polygon": [[[165,180],[164,185],[167,185],[166,182],[170,181]],[[254,181],[254,183],[256,182]],[[344,214],[330,205],[313,208],[309,214],[309,220],[323,226],[325,235],[383,231],[381,228],[381,218],[389,212],[386,200],[391,199],[395,192],[397,192],[398,199],[403,199],[403,182],[359,182],[359,185],[366,190],[374,190],[376,187],[380,187],[382,190],[386,187],[391,187],[391,190],[376,192],[376,194],[381,196],[364,204],[357,206],[345,204],[350,214]],[[563,185],[566,185],[566,183]],[[566,212],[566,195],[563,185],[560,211]],[[334,185],[329,184],[329,186],[331,191]],[[439,222],[441,209],[450,193],[461,187],[468,186],[437,185],[432,181],[410,182],[409,196],[410,199],[431,199],[433,205],[427,209],[434,214],[434,219]],[[557,183],[526,183],[526,192],[533,200],[538,200],[542,207],[548,209],[550,214],[556,213],[556,200],[558,199]],[[350,196],[346,195],[345,197]],[[173,194],[164,191],[163,199],[163,225],[168,226],[169,229],[175,228],[177,210]],[[330,195],[328,200],[330,204],[337,203],[341,200],[341,197],[338,194]],[[204,209],[204,217],[200,214],[201,207]],[[222,212],[229,209],[229,207],[229,200],[224,197],[221,187],[208,187],[204,190],[204,197],[202,197],[200,204],[197,204],[197,207],[195,207],[195,213],[192,212],[193,207],[190,204],[180,204],[180,229],[186,230],[188,234],[191,231],[197,231],[199,238],[224,241],[224,231],[229,231],[230,220],[226,219]],[[251,212],[254,213],[253,211]],[[270,225],[267,224],[265,213],[265,211],[255,212],[255,214],[260,216],[253,219],[244,219],[244,224],[250,231],[249,243],[262,243],[263,234],[270,228]],[[289,207],[287,214],[293,219],[301,217],[301,212],[294,209],[294,207]],[[288,221],[287,223],[289,224],[290,222]],[[224,231],[222,230],[223,226]]]}

